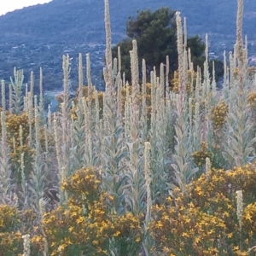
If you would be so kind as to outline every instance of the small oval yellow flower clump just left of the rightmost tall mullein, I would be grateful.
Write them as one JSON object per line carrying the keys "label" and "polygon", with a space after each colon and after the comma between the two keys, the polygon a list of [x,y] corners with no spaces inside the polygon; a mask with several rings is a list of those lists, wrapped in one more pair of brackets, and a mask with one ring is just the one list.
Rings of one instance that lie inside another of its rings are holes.
{"label": "small oval yellow flower clump just left of the rightmost tall mullein", "polygon": [[211,118],[215,129],[224,125],[228,112],[229,107],[224,101],[219,102],[216,107],[212,108]]}

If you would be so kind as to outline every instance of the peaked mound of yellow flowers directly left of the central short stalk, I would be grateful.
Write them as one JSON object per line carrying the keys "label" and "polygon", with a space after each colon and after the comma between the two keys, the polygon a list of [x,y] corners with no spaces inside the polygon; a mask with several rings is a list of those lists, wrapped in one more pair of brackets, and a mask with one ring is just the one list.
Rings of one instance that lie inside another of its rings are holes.
{"label": "peaked mound of yellow flowers directly left of the central short stalk", "polygon": [[[79,170],[62,183],[70,199],[44,215],[44,234],[50,255],[108,255],[109,237],[122,252],[140,249],[141,220],[131,212],[122,215],[113,211],[113,195],[100,189],[101,179],[96,168]],[[32,241],[43,248],[44,239],[36,236]]]}

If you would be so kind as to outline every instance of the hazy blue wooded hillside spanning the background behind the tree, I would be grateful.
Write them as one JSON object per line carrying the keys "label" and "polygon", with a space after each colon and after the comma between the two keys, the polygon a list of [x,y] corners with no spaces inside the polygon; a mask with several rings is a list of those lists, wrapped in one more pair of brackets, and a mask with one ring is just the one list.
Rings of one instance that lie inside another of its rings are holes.
{"label": "hazy blue wooded hillside spanning the background behind the tree", "polygon": [[[197,33],[203,37],[209,33],[210,40],[216,41],[217,38],[233,40],[236,34],[236,0],[110,0],[109,4],[113,43],[125,37],[125,21],[129,15],[136,15],[137,10],[162,6],[179,10],[187,17],[189,35]],[[103,0],[53,0],[0,16],[1,79],[9,79],[14,66],[27,71],[44,66],[46,73],[50,70],[51,74],[59,74],[55,81],[61,81],[63,53],[76,58],[79,51],[88,51],[87,44],[104,44],[103,10]],[[245,0],[244,14],[244,33],[253,40],[255,1]],[[102,58],[102,51],[100,55]],[[96,61],[100,62],[99,58]],[[57,84],[49,82],[50,87]]]}

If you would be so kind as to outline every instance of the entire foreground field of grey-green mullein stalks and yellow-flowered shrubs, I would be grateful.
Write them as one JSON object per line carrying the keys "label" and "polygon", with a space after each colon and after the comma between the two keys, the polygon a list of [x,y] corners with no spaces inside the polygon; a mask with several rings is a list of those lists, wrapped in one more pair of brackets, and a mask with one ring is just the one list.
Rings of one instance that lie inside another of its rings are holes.
{"label": "entire foreground field of grey-green mullein stalks and yellow-flowered shrubs", "polygon": [[[203,81],[183,44],[176,13],[177,71],[139,83],[132,41],[131,84],[113,60],[105,0],[106,90],[96,90],[79,55],[75,97],[63,55],[59,109],[44,114],[43,74],[24,95],[14,71],[0,112],[0,255],[254,255],[256,75],[247,66],[238,0],[236,45],[224,87]],[[168,57],[166,58],[168,60]],[[166,79],[167,78],[167,79]]]}

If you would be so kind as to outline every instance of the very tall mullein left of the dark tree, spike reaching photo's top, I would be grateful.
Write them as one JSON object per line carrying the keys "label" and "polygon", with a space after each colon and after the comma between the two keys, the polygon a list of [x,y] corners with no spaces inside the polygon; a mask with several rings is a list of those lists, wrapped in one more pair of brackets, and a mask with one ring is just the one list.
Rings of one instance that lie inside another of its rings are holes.
{"label": "very tall mullein left of the dark tree, spike reaching photo's top", "polygon": [[[102,167],[102,187],[110,195],[114,195],[114,211],[125,211],[125,197],[123,186],[126,184],[125,156],[128,154],[125,144],[125,129],[122,124],[122,116],[117,114],[116,91],[113,86],[112,53],[111,53],[111,30],[109,20],[108,0],[105,1],[105,26],[106,26],[106,64],[104,68],[104,79],[106,92],[103,96],[102,111],[102,148],[100,165]],[[125,120],[125,122],[129,120]]]}

